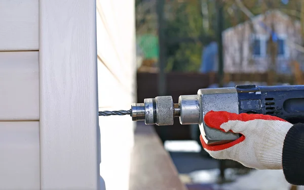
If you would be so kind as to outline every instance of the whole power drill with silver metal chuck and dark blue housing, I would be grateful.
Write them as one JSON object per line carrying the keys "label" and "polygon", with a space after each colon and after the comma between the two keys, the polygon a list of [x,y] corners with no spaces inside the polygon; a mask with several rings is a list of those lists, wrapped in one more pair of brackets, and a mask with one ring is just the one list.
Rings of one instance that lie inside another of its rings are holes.
{"label": "whole power drill with silver metal chuck and dark blue housing", "polygon": [[179,117],[180,124],[199,124],[208,145],[225,144],[240,137],[239,133],[208,127],[204,116],[209,111],[266,114],[292,124],[304,122],[304,85],[250,84],[199,89],[196,95],[180,96],[178,104],[173,103],[171,96],[144,99],[144,103],[132,104],[129,113],[133,121],[144,120],[146,125],[173,125],[174,117]]}

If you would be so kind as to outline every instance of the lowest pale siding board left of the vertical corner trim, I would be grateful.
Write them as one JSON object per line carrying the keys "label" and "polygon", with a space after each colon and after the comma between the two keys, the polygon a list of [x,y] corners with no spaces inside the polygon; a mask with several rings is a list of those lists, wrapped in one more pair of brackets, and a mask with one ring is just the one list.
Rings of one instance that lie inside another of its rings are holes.
{"label": "lowest pale siding board left of the vertical corner trim", "polygon": [[39,122],[0,122],[1,189],[40,189]]}

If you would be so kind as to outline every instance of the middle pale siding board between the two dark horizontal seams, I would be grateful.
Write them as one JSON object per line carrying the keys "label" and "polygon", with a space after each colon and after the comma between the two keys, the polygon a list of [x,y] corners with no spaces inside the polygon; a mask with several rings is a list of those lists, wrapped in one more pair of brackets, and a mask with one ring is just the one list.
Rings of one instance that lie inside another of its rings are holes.
{"label": "middle pale siding board between the two dark horizontal seams", "polygon": [[0,52],[0,121],[39,120],[38,60],[38,52]]}

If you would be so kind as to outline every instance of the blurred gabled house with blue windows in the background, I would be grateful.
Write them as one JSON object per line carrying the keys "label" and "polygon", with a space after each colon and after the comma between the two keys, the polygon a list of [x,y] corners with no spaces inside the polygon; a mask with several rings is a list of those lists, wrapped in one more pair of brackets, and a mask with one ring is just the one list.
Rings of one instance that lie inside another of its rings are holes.
{"label": "blurred gabled house with blue windows in the background", "polygon": [[[300,22],[280,11],[255,16],[251,21],[226,29],[223,33],[225,73],[264,73],[275,56],[277,73],[291,74],[291,63],[303,62]],[[277,54],[270,55],[269,45],[276,43]],[[303,67],[302,67],[303,68]]]}

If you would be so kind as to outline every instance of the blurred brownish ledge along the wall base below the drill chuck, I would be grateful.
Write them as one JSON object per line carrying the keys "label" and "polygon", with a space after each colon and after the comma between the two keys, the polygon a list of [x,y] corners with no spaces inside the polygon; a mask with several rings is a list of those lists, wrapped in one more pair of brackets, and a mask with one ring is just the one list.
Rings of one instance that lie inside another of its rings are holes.
{"label": "blurred brownish ledge along the wall base below the drill chuck", "polygon": [[186,190],[153,126],[139,124],[131,157],[130,190]]}

